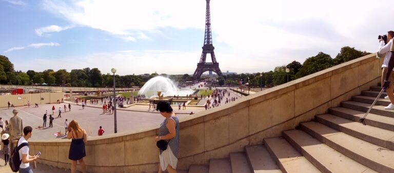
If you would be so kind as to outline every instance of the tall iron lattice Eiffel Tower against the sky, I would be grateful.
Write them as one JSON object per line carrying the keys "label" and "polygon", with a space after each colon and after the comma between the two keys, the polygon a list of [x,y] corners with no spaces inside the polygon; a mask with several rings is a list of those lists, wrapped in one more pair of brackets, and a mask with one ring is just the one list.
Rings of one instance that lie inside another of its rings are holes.
{"label": "tall iron lattice Eiffel Tower against the sky", "polygon": [[[216,62],[215,53],[213,50],[215,49],[212,45],[212,31],[211,31],[211,13],[209,10],[209,1],[207,1],[207,9],[205,15],[205,37],[204,37],[204,46],[203,53],[201,54],[200,62],[197,63],[197,69],[193,74],[194,79],[200,79],[201,75],[206,71],[213,71],[219,76],[222,76],[222,71],[219,69],[219,62]],[[212,62],[205,62],[207,53],[211,54]]]}

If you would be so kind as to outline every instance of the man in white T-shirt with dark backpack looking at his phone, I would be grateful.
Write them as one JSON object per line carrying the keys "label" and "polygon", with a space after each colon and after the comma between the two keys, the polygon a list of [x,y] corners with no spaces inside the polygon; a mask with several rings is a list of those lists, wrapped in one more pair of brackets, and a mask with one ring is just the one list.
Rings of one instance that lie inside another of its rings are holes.
{"label": "man in white T-shirt with dark backpack looking at his phone", "polygon": [[19,170],[20,173],[33,173],[30,162],[35,162],[35,160],[40,158],[40,155],[29,155],[29,143],[27,140],[31,138],[32,131],[33,128],[31,126],[23,128],[24,136],[18,139],[18,143],[12,151],[10,167],[14,172]]}

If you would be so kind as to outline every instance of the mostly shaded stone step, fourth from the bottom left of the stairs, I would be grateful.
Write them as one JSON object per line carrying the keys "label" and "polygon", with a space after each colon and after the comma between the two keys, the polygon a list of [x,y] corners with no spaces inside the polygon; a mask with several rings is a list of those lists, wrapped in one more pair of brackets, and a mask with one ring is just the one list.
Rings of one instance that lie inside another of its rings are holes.
{"label": "mostly shaded stone step, fourth from the bottom left of the stairs", "polygon": [[247,146],[245,151],[254,173],[282,172],[263,145]]}

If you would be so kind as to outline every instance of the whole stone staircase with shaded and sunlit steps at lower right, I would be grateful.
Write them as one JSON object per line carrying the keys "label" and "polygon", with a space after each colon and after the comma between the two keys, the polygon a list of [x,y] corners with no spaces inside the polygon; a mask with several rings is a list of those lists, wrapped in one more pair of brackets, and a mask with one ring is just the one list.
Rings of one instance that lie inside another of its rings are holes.
{"label": "whole stone staircase with shaded and sunlit steps at lower right", "polygon": [[282,137],[264,139],[264,145],[182,172],[394,172],[394,111],[384,110],[386,93],[368,114],[367,125],[358,122],[380,90],[371,87]]}

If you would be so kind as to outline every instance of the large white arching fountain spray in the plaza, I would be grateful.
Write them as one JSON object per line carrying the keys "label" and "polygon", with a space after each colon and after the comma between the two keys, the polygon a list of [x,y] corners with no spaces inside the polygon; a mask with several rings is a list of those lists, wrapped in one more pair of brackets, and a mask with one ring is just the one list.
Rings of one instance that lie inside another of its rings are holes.
{"label": "large white arching fountain spray in the plaza", "polygon": [[[160,94],[159,94],[160,92]],[[145,96],[145,98],[154,99],[157,96],[160,98],[169,96],[186,96],[193,94],[194,90],[191,89],[178,89],[171,79],[163,76],[156,76],[148,80],[141,90],[138,92],[139,95]]]}

